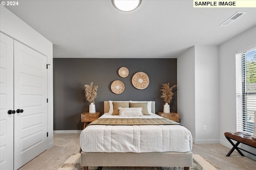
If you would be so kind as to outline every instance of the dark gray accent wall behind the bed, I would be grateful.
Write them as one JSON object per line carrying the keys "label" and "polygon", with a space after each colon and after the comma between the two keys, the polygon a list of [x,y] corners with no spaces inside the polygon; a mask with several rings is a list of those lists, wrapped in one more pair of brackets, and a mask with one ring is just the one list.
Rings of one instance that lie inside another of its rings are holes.
{"label": "dark gray accent wall behind the bed", "polygon": [[[126,67],[129,75],[118,75],[120,67]],[[138,90],[132,85],[132,76],[145,72],[149,86]],[[95,100],[96,111],[103,114],[106,100],[156,101],[156,113],[163,111],[164,102],[160,98],[162,84],[177,84],[177,59],[53,59],[54,78],[54,130],[83,129],[81,113],[89,111],[90,103],[84,99],[84,85],[93,82],[98,86]],[[121,94],[111,91],[115,80],[124,83]],[[174,90],[171,111],[177,111],[177,93]]]}

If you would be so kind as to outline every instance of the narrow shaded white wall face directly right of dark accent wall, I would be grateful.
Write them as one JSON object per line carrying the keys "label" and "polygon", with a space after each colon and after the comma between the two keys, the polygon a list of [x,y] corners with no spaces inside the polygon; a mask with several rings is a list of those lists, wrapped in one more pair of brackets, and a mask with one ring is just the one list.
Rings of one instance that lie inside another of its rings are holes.
{"label": "narrow shaded white wall face directly right of dark accent wall", "polygon": [[177,58],[178,113],[181,123],[192,134],[195,131],[195,47]]}

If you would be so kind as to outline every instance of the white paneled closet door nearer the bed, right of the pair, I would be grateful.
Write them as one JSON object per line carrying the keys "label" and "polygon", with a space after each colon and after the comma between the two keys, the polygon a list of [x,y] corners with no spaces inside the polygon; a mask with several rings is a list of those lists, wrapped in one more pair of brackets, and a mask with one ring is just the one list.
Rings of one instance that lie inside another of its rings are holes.
{"label": "white paneled closet door nearer the bed, right of the pair", "polygon": [[15,170],[47,147],[46,60],[46,56],[14,40]]}

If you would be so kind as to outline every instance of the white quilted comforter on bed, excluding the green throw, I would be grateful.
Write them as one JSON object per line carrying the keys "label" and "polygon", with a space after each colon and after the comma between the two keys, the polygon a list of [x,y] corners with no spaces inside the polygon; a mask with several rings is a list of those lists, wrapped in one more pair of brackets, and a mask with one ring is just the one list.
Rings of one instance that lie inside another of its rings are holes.
{"label": "white quilted comforter on bed, excluding the green throw", "polygon": [[[105,113],[100,118],[162,118],[151,113],[120,117]],[[90,125],[80,135],[83,152],[189,152],[192,135],[181,125]]]}

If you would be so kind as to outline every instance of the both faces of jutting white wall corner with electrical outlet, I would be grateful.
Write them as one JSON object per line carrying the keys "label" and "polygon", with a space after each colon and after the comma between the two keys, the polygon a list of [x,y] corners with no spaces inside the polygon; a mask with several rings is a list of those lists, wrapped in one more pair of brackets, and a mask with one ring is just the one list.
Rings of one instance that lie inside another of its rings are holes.
{"label": "both faces of jutting white wall corner with electrical outlet", "polygon": [[196,144],[220,143],[218,75],[218,46],[196,45],[177,59],[178,113]]}

